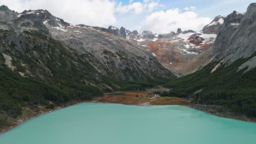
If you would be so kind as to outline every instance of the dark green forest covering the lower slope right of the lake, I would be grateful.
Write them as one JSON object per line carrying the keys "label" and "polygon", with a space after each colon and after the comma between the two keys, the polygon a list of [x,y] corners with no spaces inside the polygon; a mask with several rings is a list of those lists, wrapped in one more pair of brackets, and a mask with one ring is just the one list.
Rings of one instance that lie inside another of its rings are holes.
{"label": "dark green forest covering the lower slope right of the lake", "polygon": [[256,117],[256,68],[238,70],[249,58],[240,58],[229,66],[222,65],[211,73],[219,62],[212,62],[195,73],[172,80],[172,88],[163,96],[192,98],[194,103],[222,105],[232,111]]}

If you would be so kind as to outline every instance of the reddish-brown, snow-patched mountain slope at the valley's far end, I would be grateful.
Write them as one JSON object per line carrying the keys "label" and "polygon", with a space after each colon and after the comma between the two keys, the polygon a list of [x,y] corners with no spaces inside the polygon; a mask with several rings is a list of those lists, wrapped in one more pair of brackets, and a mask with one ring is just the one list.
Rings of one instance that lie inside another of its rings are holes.
{"label": "reddish-brown, snow-patched mountain slope at the valley's far end", "polygon": [[[208,59],[201,54],[212,47],[218,31],[223,25],[223,18],[224,16],[216,17],[200,32],[182,31],[181,28],[178,28],[176,33],[154,34],[144,31],[141,34],[136,33],[136,37],[132,37],[135,31],[131,33],[126,30],[125,34],[128,36],[123,37],[120,33],[124,28],[118,29],[113,26],[109,26],[108,32],[146,47],[165,68],[180,76],[192,73],[202,65],[202,61]],[[205,58],[201,59],[201,57]]]}

